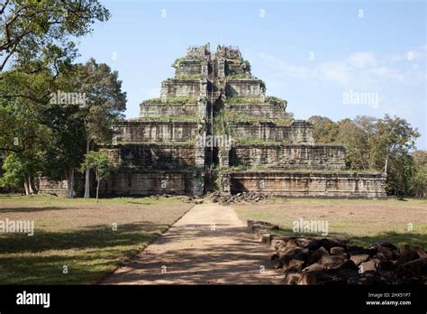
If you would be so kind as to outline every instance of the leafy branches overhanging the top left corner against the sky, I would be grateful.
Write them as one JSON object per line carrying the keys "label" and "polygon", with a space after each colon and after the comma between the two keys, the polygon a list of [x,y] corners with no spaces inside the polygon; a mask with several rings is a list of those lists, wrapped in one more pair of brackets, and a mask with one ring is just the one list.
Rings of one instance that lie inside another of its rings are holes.
{"label": "leafy branches overhanging the top left corner against the sky", "polygon": [[97,1],[4,0],[0,5],[0,71],[14,56],[24,64],[49,56],[77,54],[77,37],[92,32],[110,13]]}

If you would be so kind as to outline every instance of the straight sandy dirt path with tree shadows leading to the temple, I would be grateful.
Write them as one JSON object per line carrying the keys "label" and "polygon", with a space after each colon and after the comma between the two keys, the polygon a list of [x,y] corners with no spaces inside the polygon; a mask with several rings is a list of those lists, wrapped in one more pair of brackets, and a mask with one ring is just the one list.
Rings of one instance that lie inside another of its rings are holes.
{"label": "straight sandy dirt path with tree shadows leading to the temple", "polygon": [[271,253],[247,231],[232,208],[196,205],[102,283],[281,283],[283,275],[271,268]]}

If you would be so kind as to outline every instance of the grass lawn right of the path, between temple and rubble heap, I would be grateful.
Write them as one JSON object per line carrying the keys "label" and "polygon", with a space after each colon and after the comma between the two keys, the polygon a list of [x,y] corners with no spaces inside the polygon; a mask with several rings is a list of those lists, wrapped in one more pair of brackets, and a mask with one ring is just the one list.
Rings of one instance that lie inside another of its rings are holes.
{"label": "grass lawn right of the path, between temple and rubble heap", "polygon": [[329,236],[347,236],[355,245],[387,241],[427,249],[426,199],[270,199],[233,208],[242,220],[280,226],[282,235],[295,235],[293,222],[300,218],[326,220]]}

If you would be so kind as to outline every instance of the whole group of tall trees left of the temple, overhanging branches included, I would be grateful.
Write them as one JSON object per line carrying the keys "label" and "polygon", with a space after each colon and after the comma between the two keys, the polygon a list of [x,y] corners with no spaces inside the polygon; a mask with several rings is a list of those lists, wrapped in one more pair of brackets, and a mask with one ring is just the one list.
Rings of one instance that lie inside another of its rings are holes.
{"label": "whole group of tall trees left of the temple, overhanging branches included", "polygon": [[81,170],[89,197],[89,171],[104,164],[89,152],[111,143],[126,94],[108,65],[75,63],[76,41],[110,14],[97,1],[10,0],[0,16],[0,185],[37,193],[43,175],[67,179],[72,197]]}

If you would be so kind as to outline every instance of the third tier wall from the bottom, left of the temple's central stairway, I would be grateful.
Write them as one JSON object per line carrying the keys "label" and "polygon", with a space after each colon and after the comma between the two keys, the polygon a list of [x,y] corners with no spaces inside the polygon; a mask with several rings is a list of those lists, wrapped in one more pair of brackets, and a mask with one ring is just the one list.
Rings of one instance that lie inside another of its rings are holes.
{"label": "third tier wall from the bottom, left of the temple's central stairway", "polygon": [[121,122],[114,125],[117,143],[186,142],[197,135],[196,122]]}

